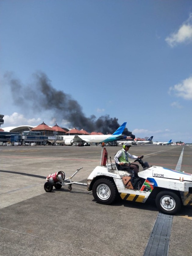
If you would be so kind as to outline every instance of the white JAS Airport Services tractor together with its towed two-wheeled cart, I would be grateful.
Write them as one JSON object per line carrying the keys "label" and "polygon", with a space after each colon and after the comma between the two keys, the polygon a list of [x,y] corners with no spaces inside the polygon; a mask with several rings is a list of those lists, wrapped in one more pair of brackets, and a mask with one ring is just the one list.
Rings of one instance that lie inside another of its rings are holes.
{"label": "white JAS Airport Services tractor together with its towed two-wheeled cart", "polygon": [[[112,204],[118,199],[139,203],[145,203],[149,198],[155,199],[158,210],[169,215],[176,214],[182,205],[192,205],[192,174],[149,166],[142,158],[134,161],[139,162],[143,168],[136,178],[125,170],[118,170],[115,163],[108,163],[107,150],[102,146],[101,163],[91,172],[87,184],[71,180],[80,168],[70,178],[66,178],[62,171],[49,175],[44,189],[51,192],[53,186],[60,189],[68,185],[70,191],[72,184],[86,185],[100,204]],[[67,180],[70,182],[65,184]]]}

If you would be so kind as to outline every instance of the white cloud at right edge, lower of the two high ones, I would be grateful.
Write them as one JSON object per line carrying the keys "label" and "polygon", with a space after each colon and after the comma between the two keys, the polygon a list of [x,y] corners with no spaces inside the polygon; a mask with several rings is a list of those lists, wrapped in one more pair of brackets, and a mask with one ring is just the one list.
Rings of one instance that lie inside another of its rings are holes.
{"label": "white cloud at right edge, lower of the two high ones", "polygon": [[192,99],[192,77],[183,80],[180,84],[169,88],[169,92],[173,91],[176,96],[183,99]]}

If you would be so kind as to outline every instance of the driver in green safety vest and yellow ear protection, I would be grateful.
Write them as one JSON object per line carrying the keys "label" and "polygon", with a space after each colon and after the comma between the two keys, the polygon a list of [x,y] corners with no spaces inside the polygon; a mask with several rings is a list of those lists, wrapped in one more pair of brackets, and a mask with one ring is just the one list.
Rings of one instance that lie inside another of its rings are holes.
{"label": "driver in green safety vest and yellow ear protection", "polygon": [[130,149],[131,145],[129,143],[125,143],[123,145],[123,149],[119,150],[115,157],[114,160],[116,164],[119,166],[119,170],[121,170],[122,167],[129,167],[130,170],[134,171],[134,177],[138,177],[138,172],[139,172],[139,165],[138,164],[132,164],[129,162],[128,157],[132,159],[137,159],[137,156],[131,155],[128,153],[128,150]]}

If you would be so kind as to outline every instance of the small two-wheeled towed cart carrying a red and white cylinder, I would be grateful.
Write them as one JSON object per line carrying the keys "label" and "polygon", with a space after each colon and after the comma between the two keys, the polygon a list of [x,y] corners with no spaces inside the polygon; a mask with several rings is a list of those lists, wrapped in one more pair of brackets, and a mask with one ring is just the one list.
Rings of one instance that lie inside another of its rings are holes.
{"label": "small two-wheeled towed cart carrying a red and white cylinder", "polygon": [[[46,192],[52,192],[53,186],[55,187],[55,189],[60,189],[62,186],[68,185],[68,190],[71,191],[72,184],[87,186],[87,183],[73,182],[71,180],[73,178],[73,176],[75,176],[76,173],[78,171],[80,171],[82,168],[83,167],[81,167],[80,169],[77,169],[76,172],[73,173],[73,175],[69,178],[66,178],[66,175],[63,171],[58,171],[58,172],[48,175],[46,178],[47,182],[45,182],[45,184],[44,184],[44,190]],[[66,182],[67,180],[69,180],[69,182]],[[66,184],[65,184],[65,182],[66,182]]]}

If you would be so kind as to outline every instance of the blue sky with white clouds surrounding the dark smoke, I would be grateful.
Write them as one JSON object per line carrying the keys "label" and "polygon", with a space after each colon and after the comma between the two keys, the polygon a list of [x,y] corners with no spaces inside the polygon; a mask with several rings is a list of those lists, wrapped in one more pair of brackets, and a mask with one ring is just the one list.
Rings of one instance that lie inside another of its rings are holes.
{"label": "blue sky with white clouds surrounding the dark smoke", "polygon": [[44,74],[87,118],[192,143],[191,1],[2,0],[0,35],[2,128],[71,126],[60,110],[32,103],[34,74]]}

